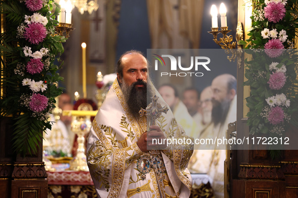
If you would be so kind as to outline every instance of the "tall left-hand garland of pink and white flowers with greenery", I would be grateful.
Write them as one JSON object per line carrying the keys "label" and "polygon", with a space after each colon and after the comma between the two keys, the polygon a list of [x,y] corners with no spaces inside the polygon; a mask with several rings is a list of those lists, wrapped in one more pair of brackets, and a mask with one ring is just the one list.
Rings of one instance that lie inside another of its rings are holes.
{"label": "tall left-hand garland of pink and white flowers with greenery", "polygon": [[[53,6],[56,6],[53,12]],[[52,0],[1,1],[6,31],[1,34],[1,116],[15,119],[13,147],[16,153],[37,152],[42,133],[51,128],[47,118],[55,97],[62,93],[55,83],[64,36],[55,35],[60,12]]]}

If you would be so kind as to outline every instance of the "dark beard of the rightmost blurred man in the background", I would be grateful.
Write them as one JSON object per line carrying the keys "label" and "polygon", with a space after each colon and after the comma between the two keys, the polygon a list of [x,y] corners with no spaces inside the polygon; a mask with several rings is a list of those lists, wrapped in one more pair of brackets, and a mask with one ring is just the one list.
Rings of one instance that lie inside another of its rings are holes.
{"label": "dark beard of the rightmost blurred man in the background", "polygon": [[215,100],[212,100],[212,122],[216,125],[222,124],[225,121],[227,113],[230,108],[230,101],[224,100],[221,103]]}

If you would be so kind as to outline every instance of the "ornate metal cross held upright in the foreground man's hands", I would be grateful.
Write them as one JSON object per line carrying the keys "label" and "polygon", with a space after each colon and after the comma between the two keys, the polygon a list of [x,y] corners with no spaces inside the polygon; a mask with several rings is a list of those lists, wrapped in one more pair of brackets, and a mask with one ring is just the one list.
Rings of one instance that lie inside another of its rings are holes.
{"label": "ornate metal cross held upright in the foreground man's hands", "polygon": [[[161,105],[159,103],[157,103],[158,100],[158,96],[154,95],[151,97],[152,99],[152,103],[150,103],[146,110],[144,110],[143,108],[141,108],[141,110],[139,111],[140,116],[144,116],[146,115],[147,117],[147,121],[148,119],[150,120],[150,122],[147,122],[147,131],[149,131],[149,127],[151,125],[155,125],[155,120],[161,115],[161,113],[167,113],[168,108],[167,106],[161,107]],[[149,125],[148,125],[149,123]]]}

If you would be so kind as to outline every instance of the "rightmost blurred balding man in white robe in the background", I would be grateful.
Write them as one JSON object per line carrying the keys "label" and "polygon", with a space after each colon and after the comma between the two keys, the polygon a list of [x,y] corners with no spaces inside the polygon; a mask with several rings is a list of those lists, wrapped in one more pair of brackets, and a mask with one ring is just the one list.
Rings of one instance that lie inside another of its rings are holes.
{"label": "rightmost blurred balding man in white robe in the background", "polygon": [[[236,78],[230,74],[216,76],[212,80],[211,89],[211,123],[201,132],[200,139],[225,138],[228,123],[236,121]],[[211,185],[215,197],[224,197],[225,145],[219,147],[216,145],[195,145],[195,149],[199,149],[201,153],[204,151],[209,153],[209,157],[205,156],[205,159],[209,159],[205,162],[209,164],[207,174],[213,180]]]}

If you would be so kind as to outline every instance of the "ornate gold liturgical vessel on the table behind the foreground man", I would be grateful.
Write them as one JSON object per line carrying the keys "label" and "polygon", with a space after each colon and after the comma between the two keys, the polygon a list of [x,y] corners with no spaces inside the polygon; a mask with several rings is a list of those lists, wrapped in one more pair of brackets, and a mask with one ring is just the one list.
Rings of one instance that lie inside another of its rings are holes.
{"label": "ornate gold liturgical vessel on the table behind the foreground man", "polygon": [[[83,103],[78,108],[79,111],[90,111],[92,110],[92,106],[87,103]],[[70,170],[77,171],[89,171],[87,165],[87,159],[85,154],[85,135],[89,132],[91,127],[90,116],[74,116],[71,125],[72,132],[78,135],[78,149],[77,154],[72,161],[70,161]]]}

